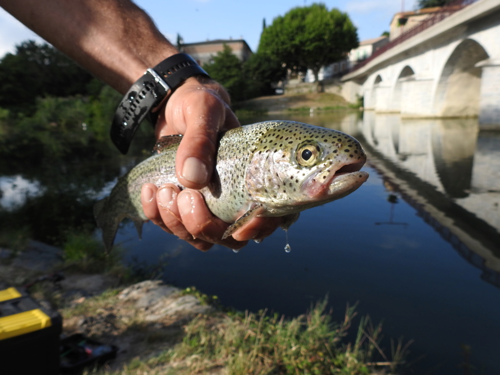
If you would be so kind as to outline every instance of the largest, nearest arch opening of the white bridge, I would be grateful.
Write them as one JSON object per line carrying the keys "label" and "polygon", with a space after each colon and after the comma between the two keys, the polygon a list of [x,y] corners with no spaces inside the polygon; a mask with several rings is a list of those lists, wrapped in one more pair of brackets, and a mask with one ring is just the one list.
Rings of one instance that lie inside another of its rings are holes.
{"label": "largest, nearest arch opening of the white bridge", "polygon": [[473,39],[462,40],[446,60],[435,92],[434,113],[443,117],[479,114],[481,68],[475,64],[488,58]]}

